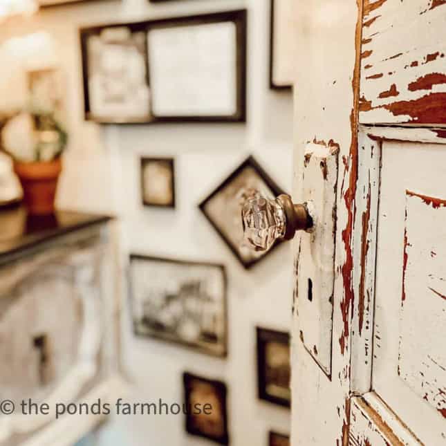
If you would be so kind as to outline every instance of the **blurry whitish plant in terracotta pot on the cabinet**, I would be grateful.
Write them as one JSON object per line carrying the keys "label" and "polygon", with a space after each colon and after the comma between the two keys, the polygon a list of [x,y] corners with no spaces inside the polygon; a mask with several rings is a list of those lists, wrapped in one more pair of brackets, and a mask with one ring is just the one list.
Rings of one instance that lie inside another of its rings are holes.
{"label": "blurry whitish plant in terracotta pot on the cabinet", "polygon": [[1,147],[12,157],[29,214],[54,212],[61,154],[67,133],[48,109],[14,113],[1,129]]}

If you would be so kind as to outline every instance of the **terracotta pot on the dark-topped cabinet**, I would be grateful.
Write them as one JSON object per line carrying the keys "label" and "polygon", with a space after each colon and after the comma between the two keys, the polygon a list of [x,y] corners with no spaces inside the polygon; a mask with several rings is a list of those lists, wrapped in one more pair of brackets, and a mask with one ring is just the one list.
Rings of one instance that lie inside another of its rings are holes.
{"label": "terracotta pot on the dark-topped cabinet", "polygon": [[62,171],[62,160],[48,162],[14,162],[14,171],[24,189],[24,203],[28,213],[46,215],[54,212],[57,181]]}

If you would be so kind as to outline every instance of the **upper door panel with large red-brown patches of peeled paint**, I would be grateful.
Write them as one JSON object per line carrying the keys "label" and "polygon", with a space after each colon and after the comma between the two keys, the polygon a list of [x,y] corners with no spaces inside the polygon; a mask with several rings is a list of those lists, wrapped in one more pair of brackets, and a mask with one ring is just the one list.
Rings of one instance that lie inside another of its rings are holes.
{"label": "upper door panel with large red-brown patches of peeled paint", "polygon": [[446,3],[365,0],[360,122],[446,122]]}

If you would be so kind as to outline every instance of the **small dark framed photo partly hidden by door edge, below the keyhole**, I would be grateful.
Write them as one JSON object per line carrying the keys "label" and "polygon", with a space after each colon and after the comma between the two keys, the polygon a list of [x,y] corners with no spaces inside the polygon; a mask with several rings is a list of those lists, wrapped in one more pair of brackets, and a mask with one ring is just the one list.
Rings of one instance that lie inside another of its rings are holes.
{"label": "small dark framed photo partly hidden by door edge, below the keyhole", "polygon": [[257,327],[259,398],[290,407],[290,335]]}

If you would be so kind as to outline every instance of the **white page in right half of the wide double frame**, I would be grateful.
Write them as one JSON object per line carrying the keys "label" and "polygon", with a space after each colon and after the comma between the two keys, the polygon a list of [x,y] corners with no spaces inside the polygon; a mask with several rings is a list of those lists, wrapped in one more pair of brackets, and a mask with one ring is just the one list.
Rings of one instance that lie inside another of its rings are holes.
{"label": "white page in right half of the wide double frame", "polygon": [[237,112],[236,24],[151,28],[151,107],[156,117],[220,117]]}

